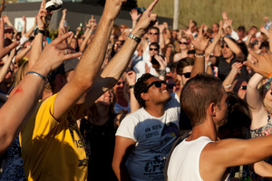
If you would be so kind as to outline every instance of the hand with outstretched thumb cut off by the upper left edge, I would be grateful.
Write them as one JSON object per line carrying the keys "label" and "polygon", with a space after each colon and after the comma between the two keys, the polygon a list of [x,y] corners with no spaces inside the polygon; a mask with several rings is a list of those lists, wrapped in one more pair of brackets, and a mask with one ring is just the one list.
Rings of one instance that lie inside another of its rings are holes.
{"label": "hand with outstretched thumb cut off by the upper left edge", "polygon": [[5,57],[5,55],[8,52],[11,52],[19,44],[19,42],[14,42],[14,43],[11,43],[8,46],[4,45],[4,40],[5,40],[5,37],[4,37],[4,27],[5,27],[4,19],[1,18],[0,19],[0,59],[2,59],[3,57]]}

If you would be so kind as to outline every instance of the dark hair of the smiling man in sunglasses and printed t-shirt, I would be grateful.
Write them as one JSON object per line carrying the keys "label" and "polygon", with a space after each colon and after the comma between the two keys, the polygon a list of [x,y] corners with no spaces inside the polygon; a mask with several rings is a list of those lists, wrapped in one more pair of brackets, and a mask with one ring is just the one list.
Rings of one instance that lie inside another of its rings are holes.
{"label": "dark hair of the smiling man in sunglasses and printed t-shirt", "polygon": [[151,73],[144,73],[134,85],[134,96],[136,100],[138,100],[141,107],[145,107],[145,101],[142,100],[141,93],[146,91],[147,87],[149,86],[146,81],[148,81],[151,77],[154,77],[151,75]]}

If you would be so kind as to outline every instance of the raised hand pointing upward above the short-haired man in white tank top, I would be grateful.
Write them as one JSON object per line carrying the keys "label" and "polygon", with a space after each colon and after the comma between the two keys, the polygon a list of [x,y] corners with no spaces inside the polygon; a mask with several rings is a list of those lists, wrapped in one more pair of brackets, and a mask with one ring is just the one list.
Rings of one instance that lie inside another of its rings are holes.
{"label": "raised hand pointing upward above the short-haired man in white tank top", "polygon": [[202,24],[199,29],[199,36],[192,42],[196,51],[204,52],[208,46],[210,36],[208,33],[202,33],[204,25]]}

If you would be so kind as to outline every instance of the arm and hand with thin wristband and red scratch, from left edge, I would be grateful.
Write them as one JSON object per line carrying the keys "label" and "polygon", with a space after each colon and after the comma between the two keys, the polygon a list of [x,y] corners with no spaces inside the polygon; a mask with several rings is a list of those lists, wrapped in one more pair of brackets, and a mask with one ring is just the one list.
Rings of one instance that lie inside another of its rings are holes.
{"label": "arm and hand with thin wristband and red scratch, from left edge", "polygon": [[24,121],[32,114],[32,110],[34,110],[44,90],[44,79],[42,77],[46,77],[50,71],[58,67],[64,60],[81,55],[81,53],[66,54],[64,51],[66,47],[60,46],[60,43],[69,35],[71,33],[64,34],[46,46],[38,62],[31,69],[36,73],[26,74],[1,108],[0,154],[13,142],[23,127]]}

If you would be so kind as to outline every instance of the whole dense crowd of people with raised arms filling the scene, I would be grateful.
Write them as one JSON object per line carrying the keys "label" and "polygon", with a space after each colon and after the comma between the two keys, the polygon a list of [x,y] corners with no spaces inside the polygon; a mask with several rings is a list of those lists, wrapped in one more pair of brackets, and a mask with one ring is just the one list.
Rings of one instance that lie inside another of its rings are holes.
{"label": "whole dense crowd of people with raised arms filling the scene", "polygon": [[[0,19],[0,180],[272,179],[272,29],[159,24],[153,0],[114,24],[47,31]],[[3,8],[0,10],[3,10]],[[179,142],[177,142],[179,141]]]}

